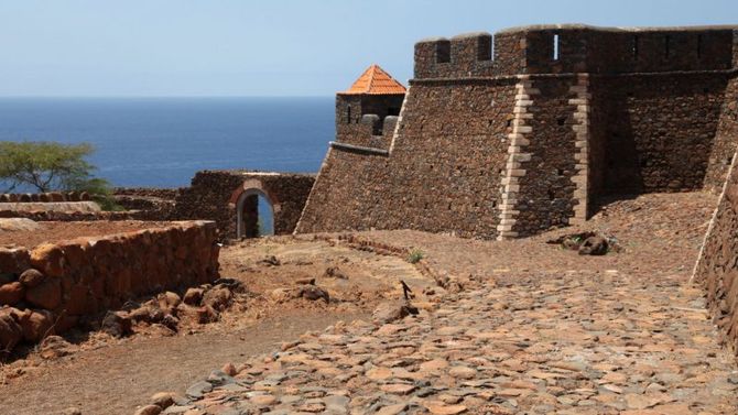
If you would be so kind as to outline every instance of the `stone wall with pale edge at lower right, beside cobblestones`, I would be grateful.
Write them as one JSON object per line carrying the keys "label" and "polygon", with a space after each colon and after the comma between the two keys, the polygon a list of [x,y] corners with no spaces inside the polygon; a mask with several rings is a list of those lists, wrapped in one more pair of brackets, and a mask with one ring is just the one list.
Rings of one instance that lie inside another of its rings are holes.
{"label": "stone wall with pale edge at lower right, beside cobblestones", "polygon": [[724,341],[738,356],[738,170],[735,155],[692,281],[702,284]]}

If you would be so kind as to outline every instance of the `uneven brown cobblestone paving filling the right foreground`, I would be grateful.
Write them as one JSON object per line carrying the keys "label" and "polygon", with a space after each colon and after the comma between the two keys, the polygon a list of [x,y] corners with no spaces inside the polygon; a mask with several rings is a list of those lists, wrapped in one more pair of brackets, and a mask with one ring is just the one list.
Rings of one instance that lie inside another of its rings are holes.
{"label": "uneven brown cobblestone paving filling the right foreground", "polygon": [[617,271],[477,282],[215,371],[165,414],[737,414],[702,292]]}

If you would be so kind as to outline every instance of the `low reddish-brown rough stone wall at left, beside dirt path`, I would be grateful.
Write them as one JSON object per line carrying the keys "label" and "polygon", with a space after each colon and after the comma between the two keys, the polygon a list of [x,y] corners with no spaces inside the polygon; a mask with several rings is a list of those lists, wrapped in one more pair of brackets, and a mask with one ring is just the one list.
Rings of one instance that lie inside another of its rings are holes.
{"label": "low reddish-brown rough stone wall at left, beside dirt path", "polygon": [[138,296],[217,280],[216,239],[214,222],[189,221],[33,249],[0,247],[0,351]]}

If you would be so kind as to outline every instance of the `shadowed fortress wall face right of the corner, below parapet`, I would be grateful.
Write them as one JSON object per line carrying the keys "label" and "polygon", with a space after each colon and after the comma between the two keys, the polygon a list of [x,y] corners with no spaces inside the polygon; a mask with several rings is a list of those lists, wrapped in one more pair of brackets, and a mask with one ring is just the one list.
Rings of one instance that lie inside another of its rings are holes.
{"label": "shadowed fortress wall face right of the corner, below parapet", "polygon": [[726,85],[715,74],[593,77],[606,140],[604,194],[703,186]]}

